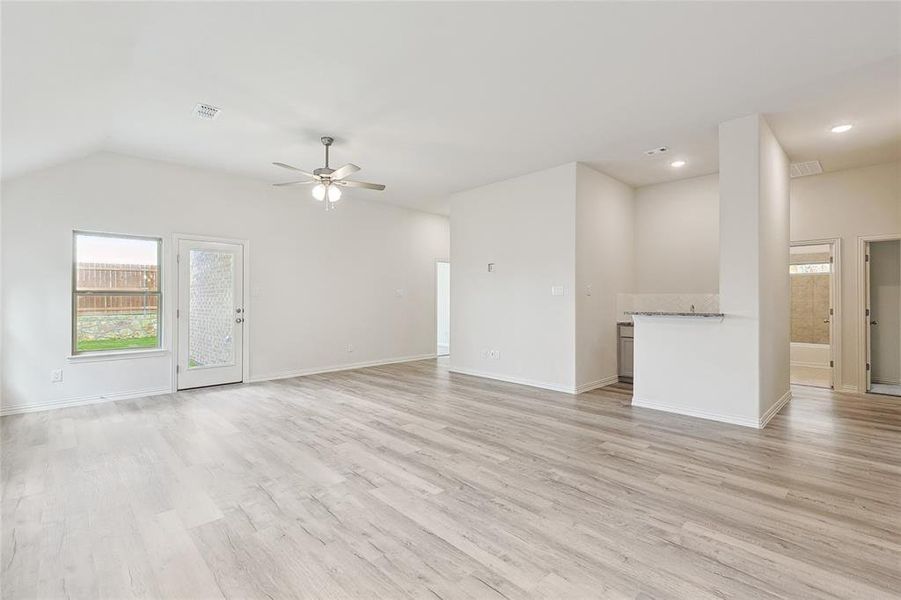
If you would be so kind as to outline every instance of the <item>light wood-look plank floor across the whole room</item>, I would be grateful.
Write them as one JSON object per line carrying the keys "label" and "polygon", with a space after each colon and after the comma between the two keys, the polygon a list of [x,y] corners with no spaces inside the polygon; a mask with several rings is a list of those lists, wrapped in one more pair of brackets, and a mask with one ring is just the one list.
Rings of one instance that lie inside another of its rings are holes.
{"label": "light wood-look plank floor across the whole room", "polygon": [[764,431],[436,361],[2,420],[4,598],[898,598],[901,401]]}

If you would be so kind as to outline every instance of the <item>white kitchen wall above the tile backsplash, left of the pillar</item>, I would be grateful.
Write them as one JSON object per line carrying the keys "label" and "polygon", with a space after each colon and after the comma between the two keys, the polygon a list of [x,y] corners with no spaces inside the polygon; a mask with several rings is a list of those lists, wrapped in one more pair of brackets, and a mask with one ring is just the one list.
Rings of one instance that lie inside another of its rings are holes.
{"label": "white kitchen wall above the tile backsplash, left of the pillar", "polygon": [[719,176],[635,192],[635,291],[719,291]]}

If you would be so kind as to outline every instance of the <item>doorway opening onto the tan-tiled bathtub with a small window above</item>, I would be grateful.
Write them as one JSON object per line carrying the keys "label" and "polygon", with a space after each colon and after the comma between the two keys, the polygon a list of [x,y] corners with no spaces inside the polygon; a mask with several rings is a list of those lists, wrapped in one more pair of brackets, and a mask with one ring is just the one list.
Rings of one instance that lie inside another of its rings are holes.
{"label": "doorway opening onto the tan-tiled bathtub with a small window above", "polygon": [[791,383],[835,386],[837,241],[793,242],[791,279]]}

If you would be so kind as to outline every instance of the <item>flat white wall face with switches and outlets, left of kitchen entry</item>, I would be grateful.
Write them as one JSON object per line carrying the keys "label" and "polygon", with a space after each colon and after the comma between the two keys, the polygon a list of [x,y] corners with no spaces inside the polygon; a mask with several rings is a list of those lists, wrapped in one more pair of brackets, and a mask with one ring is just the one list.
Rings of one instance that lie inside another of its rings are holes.
{"label": "flat white wall face with switches and outlets, left of kitchen entry", "polygon": [[451,370],[574,389],[575,173],[569,163],[451,197]]}

